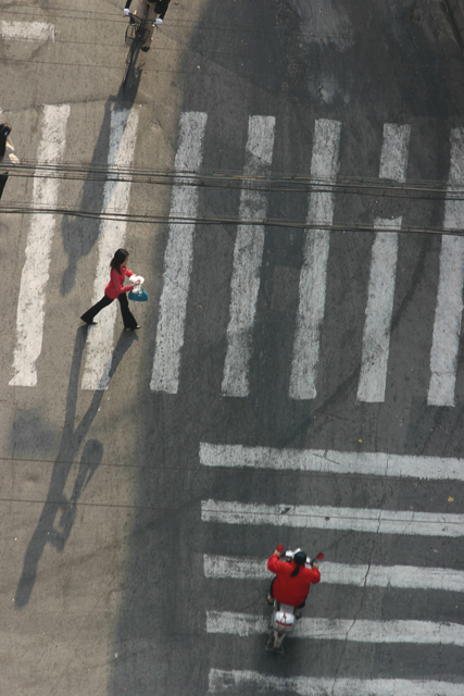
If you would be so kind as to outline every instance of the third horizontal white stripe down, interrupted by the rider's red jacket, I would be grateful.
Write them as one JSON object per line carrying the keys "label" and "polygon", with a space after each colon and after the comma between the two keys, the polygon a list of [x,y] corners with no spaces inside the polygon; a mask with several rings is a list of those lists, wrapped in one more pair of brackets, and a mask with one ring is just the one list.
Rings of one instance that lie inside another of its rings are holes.
{"label": "third horizontal white stripe down, interrupted by the rider's red jacket", "polygon": [[[267,559],[203,555],[204,576],[211,580],[269,580]],[[464,572],[446,568],[414,566],[322,566],[324,584],[354,587],[394,587],[399,589],[438,589],[464,592]]]}

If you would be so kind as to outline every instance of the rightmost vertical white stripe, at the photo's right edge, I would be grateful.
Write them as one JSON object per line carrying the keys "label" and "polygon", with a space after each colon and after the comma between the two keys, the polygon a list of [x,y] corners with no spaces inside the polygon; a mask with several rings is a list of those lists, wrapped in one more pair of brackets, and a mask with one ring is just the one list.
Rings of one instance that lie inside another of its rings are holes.
{"label": "rightmost vertical white stripe, at the photo's right edge", "polygon": [[[446,229],[461,229],[464,200],[452,198],[464,184],[464,129],[454,128],[450,137],[450,175],[444,202]],[[430,350],[428,406],[454,406],[457,351],[461,339],[464,286],[464,237],[441,237],[440,275]]]}

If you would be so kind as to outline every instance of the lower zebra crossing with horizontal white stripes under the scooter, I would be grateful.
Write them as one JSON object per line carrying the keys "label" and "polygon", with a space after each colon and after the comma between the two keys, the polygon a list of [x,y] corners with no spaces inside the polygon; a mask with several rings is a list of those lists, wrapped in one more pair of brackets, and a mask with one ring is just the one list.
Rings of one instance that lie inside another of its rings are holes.
{"label": "lower zebra crossing with horizontal white stripes under the scooter", "polygon": [[[464,460],[446,458],[399,457],[387,453],[362,455],[355,452],[336,452],[318,450],[278,450],[264,447],[243,447],[233,445],[200,445],[200,463],[208,469],[236,469],[262,471],[264,474],[278,471],[330,472],[356,474],[358,476],[378,475],[383,477],[406,476],[410,480],[462,481]],[[390,465],[391,464],[391,465]],[[449,467],[448,467],[449,464]],[[201,520],[204,524],[225,524],[239,526],[277,526],[293,530],[355,531],[361,534],[405,535],[409,546],[415,538],[440,536],[464,536],[464,515],[434,512],[412,512],[411,510],[375,510],[340,507],[263,505],[236,500],[202,500]],[[364,563],[324,562],[322,582],[339,587],[340,592],[349,585],[359,588],[388,588],[390,592],[409,589],[416,593],[440,591],[464,593],[464,572],[450,568],[376,566],[369,562],[369,546],[363,545],[366,554]],[[265,581],[271,579],[266,561],[259,558],[203,555],[203,573],[206,582],[223,580],[228,584],[244,581]],[[206,593],[208,594],[208,593]],[[222,597],[233,596],[231,592]],[[311,597],[310,597],[311,598]],[[226,600],[227,602],[227,600]],[[311,604],[311,602],[310,602]],[[313,607],[315,605],[311,604]],[[311,609],[310,609],[311,611]],[[363,645],[406,645],[421,650],[426,646],[440,646],[456,649],[464,647],[464,626],[448,621],[430,621],[425,616],[421,620],[383,620],[359,618],[334,619],[317,616],[301,619],[291,638],[311,639],[323,649],[325,642],[347,642]],[[268,632],[268,617],[264,610],[255,608],[253,613],[242,613],[227,607],[227,610],[206,608],[206,633],[229,635],[235,641],[261,636],[263,646]],[[291,647],[288,647],[291,649]],[[421,663],[421,662],[418,662]],[[242,668],[243,666],[238,666]],[[243,669],[218,669],[212,664],[209,672],[209,694],[238,694],[243,688],[250,693],[288,693],[305,696],[326,696],[340,694],[385,694],[398,696],[400,693],[421,696],[448,696],[460,694],[463,684],[450,680],[404,680],[391,679],[363,680],[315,676],[275,676],[259,671]],[[254,689],[254,691],[253,691]],[[248,692],[247,692],[248,693]]]}

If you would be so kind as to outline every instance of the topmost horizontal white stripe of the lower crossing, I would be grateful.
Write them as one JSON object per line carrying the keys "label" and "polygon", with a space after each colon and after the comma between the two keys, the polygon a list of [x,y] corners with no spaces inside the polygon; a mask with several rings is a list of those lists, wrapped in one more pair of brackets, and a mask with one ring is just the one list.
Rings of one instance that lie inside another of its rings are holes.
{"label": "topmost horizontal white stripe of the lower crossing", "polygon": [[203,467],[273,469],[318,473],[398,476],[430,481],[464,481],[464,459],[414,457],[330,449],[277,449],[200,443]]}

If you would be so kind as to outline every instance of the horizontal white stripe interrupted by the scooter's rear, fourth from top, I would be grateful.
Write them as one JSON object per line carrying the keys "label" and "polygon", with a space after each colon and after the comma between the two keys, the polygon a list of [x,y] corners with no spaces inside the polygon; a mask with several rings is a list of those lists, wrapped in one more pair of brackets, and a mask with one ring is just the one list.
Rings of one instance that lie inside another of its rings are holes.
{"label": "horizontal white stripe interrupted by the scooter's rear, fourth from top", "polygon": [[[246,637],[267,633],[268,617],[231,611],[206,611],[208,633]],[[352,619],[300,619],[291,638],[353,641],[355,643],[415,643],[464,647],[464,625],[431,621],[367,621]]]}

